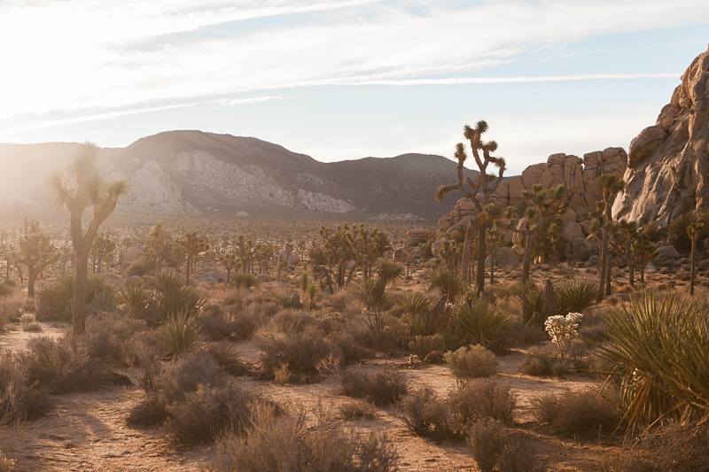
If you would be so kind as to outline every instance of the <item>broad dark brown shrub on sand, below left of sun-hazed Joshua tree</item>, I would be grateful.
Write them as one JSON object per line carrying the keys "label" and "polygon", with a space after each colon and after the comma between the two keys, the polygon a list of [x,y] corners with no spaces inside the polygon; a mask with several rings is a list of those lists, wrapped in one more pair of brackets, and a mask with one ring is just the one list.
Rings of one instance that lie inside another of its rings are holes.
{"label": "broad dark brown shrub on sand, below left of sun-hazed Joshua tree", "polygon": [[115,383],[130,383],[100,360],[92,358],[83,344],[73,337],[35,337],[19,354],[27,369],[27,379],[52,393],[91,391]]}

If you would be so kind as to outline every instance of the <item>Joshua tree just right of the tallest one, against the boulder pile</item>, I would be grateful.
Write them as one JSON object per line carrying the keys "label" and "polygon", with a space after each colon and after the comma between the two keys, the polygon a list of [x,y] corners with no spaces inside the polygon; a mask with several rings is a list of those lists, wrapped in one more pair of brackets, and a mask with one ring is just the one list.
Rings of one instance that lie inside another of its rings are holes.
{"label": "Joshua tree just right of the tallest one, against the boulder pile", "polygon": [[[540,183],[532,186],[532,190],[524,190],[522,197],[528,204],[525,208],[525,220],[523,228],[517,228],[517,224],[512,222],[504,224],[503,221],[495,221],[497,226],[509,229],[525,238],[525,256],[522,265],[522,283],[529,282],[529,271],[532,267],[532,252],[534,251],[534,239],[541,235],[547,223],[558,216],[566,213],[569,208],[569,199],[566,198],[566,187],[559,185],[549,191],[544,190]],[[512,217],[512,207],[507,208],[505,219]]]}

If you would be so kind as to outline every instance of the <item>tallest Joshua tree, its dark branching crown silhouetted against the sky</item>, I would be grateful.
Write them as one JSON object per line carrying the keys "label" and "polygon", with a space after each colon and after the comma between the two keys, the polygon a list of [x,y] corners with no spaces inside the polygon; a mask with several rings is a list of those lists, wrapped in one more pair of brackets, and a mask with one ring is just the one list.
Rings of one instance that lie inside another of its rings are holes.
{"label": "tallest Joshua tree, its dark branching crown silhouetted against the sky", "polygon": [[[476,284],[478,286],[478,294],[485,289],[485,257],[487,248],[485,244],[487,227],[502,214],[502,207],[494,205],[490,202],[490,197],[497,190],[500,182],[503,182],[503,174],[505,171],[505,161],[503,158],[495,158],[490,156],[491,152],[497,150],[495,141],[482,141],[482,135],[487,131],[487,123],[478,121],[475,128],[465,125],[463,134],[470,141],[472,156],[475,159],[475,164],[478,166],[479,174],[475,182],[463,174],[463,165],[465,159],[468,159],[465,153],[463,143],[456,144],[456,153],[454,157],[458,161],[456,167],[457,182],[453,185],[441,185],[435,193],[437,201],[443,201],[449,192],[458,190],[460,194],[472,202],[475,209],[478,211],[476,218],[468,223],[468,229],[465,232],[465,242],[463,246],[463,258],[461,260],[461,273],[464,277],[468,274],[468,264],[471,259],[472,237],[475,230],[478,230],[478,270]],[[480,157],[482,153],[482,157]],[[498,169],[497,175],[487,174],[487,166],[494,165]],[[480,196],[480,200],[478,199]]]}

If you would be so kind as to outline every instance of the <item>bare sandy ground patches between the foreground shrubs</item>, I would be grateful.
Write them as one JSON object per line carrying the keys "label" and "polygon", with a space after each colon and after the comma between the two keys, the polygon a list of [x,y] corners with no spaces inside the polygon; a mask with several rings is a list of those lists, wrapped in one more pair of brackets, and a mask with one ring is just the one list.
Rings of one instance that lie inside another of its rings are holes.
{"label": "bare sandy ground patches between the foreground shrubs", "polygon": [[[60,336],[66,327],[61,323],[45,324],[43,333],[19,329],[0,335],[0,347],[18,350],[35,336]],[[235,343],[245,359],[258,361],[255,343]],[[518,429],[533,438],[535,449],[549,460],[550,470],[586,471],[598,468],[613,447],[589,445],[544,435],[531,428],[529,401],[545,391],[580,389],[596,383],[587,376],[569,374],[563,381],[537,378],[518,373],[524,352],[498,357],[499,381],[509,382],[518,395]],[[417,364],[403,367],[408,358],[370,360],[363,368],[406,369],[413,389],[430,386],[441,396],[456,384],[446,365]],[[315,410],[318,406],[337,414],[342,402],[352,401],[339,393],[334,377],[307,385],[278,385],[252,379],[245,386],[288,408]],[[7,452],[17,460],[18,472],[35,471],[199,471],[205,470],[212,457],[209,446],[175,447],[159,429],[136,429],[126,424],[129,409],[144,395],[136,387],[108,391],[61,395],[56,408],[46,418],[28,423],[11,441]],[[357,431],[385,431],[400,454],[402,471],[476,470],[471,450],[465,443],[435,441],[417,437],[405,429],[396,417],[397,407],[378,407],[376,417],[347,422]]]}

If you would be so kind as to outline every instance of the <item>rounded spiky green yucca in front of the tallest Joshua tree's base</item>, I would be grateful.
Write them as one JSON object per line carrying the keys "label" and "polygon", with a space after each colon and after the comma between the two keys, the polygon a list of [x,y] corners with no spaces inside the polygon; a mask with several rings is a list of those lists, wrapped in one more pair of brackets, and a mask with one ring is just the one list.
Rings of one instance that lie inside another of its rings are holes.
{"label": "rounded spiky green yucca in front of the tallest Joshua tree's base", "polygon": [[456,306],[456,320],[467,331],[469,344],[492,346],[499,341],[500,330],[507,324],[508,317],[471,292]]}

